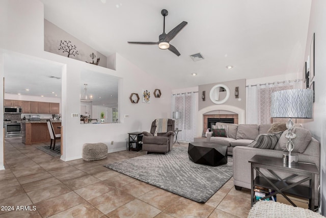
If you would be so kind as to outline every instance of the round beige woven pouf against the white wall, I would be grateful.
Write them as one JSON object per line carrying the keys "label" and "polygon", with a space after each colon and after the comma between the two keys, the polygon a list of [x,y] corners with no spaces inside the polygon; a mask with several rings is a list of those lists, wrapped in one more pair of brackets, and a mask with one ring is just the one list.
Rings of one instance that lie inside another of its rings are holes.
{"label": "round beige woven pouf against the white wall", "polygon": [[107,157],[107,146],[104,143],[86,143],[82,157],[86,161],[102,160]]}

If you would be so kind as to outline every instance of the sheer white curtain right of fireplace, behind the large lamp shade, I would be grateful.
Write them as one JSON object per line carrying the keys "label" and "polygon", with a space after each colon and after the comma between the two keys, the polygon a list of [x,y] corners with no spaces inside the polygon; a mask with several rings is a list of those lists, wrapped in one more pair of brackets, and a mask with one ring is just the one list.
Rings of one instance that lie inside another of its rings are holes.
{"label": "sheer white curtain right of fireplace, behind the large lamp shade", "polygon": [[270,124],[272,92],[302,88],[302,80],[249,85],[246,87],[246,124]]}

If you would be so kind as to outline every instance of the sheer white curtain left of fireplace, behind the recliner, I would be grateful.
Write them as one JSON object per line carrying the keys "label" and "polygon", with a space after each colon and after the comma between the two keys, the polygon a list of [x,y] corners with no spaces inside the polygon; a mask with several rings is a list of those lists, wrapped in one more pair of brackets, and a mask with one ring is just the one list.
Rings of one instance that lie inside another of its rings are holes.
{"label": "sheer white curtain left of fireplace, behind the recliner", "polygon": [[[175,119],[175,128],[181,130],[178,133],[178,141],[194,141],[196,134],[196,104],[198,93],[182,93],[172,95],[172,112],[181,112],[181,118]],[[172,116],[172,115],[171,115]]]}

